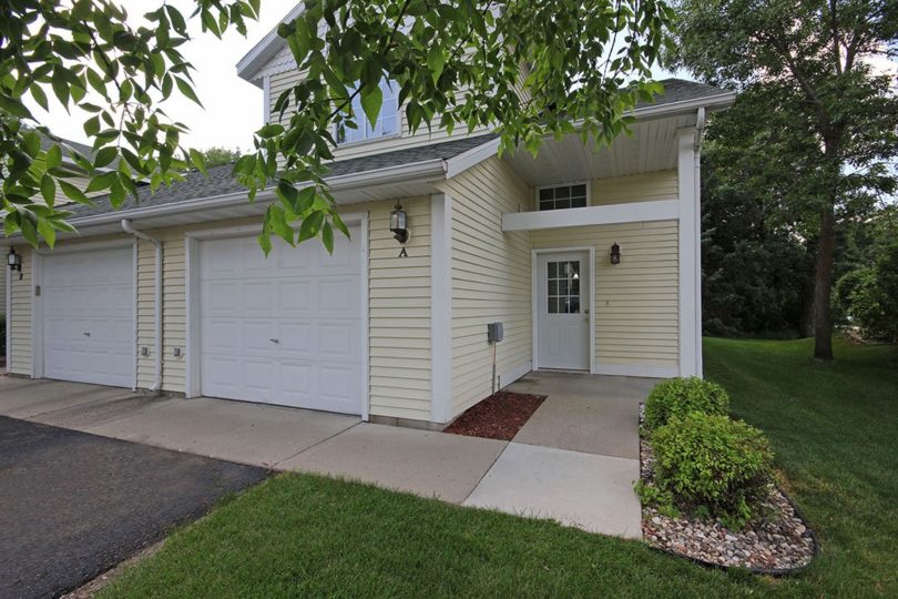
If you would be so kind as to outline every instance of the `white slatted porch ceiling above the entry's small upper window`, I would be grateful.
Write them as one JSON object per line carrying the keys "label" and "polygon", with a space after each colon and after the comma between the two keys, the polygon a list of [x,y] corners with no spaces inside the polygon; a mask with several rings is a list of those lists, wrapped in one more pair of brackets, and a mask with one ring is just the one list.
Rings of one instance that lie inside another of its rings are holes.
{"label": "white slatted porch ceiling above the entry's small upper window", "polygon": [[632,135],[621,135],[611,146],[596,149],[568,135],[547,140],[535,159],[518,151],[504,160],[531,186],[666,171],[676,169],[677,131],[688,126],[695,126],[694,114],[640,121]]}

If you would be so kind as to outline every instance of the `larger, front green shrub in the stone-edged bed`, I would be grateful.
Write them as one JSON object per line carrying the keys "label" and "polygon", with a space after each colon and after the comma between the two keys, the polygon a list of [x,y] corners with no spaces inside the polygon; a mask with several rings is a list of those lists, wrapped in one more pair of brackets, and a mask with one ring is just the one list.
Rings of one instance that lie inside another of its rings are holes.
{"label": "larger, front green shrub in the stone-edged bed", "polygon": [[773,453],[764,434],[726,416],[673,417],[652,435],[655,484],[693,511],[742,528],[758,515],[773,480]]}

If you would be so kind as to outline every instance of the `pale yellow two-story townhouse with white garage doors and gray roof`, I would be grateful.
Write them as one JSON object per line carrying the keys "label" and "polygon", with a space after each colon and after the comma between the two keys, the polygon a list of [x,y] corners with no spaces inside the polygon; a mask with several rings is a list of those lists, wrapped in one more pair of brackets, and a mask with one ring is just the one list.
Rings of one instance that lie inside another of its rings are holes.
{"label": "pale yellow two-story townhouse with white garage doors and gray roof", "polygon": [[[238,74],[266,119],[302,77],[275,32]],[[734,97],[664,87],[632,136],[535,159],[500,158],[489,131],[411,134],[387,87],[328,175],[351,231],[333,256],[276,243],[266,260],[273,194],[249,204],[231,166],[79,206],[78,240],[16,245],[10,370],[432,428],[532,369],[701,376],[698,149]]]}

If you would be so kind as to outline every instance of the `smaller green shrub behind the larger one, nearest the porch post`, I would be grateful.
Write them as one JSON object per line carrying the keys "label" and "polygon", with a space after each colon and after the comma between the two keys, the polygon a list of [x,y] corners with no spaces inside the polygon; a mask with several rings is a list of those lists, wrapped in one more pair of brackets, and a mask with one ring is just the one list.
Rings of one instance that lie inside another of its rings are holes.
{"label": "smaller green shrub behind the larger one, nearest the porch post", "polygon": [[655,430],[672,417],[682,418],[693,412],[725,416],[729,412],[729,396],[716,383],[697,377],[659,383],[645,400],[645,426]]}

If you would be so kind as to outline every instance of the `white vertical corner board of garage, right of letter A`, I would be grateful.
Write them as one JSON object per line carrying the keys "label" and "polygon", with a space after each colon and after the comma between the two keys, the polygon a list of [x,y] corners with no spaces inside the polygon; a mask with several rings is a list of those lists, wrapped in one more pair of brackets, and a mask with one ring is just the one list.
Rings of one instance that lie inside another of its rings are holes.
{"label": "white vertical corner board of garage, right of letter A", "polygon": [[430,418],[452,412],[452,199],[430,196]]}

